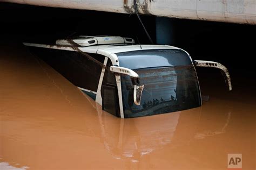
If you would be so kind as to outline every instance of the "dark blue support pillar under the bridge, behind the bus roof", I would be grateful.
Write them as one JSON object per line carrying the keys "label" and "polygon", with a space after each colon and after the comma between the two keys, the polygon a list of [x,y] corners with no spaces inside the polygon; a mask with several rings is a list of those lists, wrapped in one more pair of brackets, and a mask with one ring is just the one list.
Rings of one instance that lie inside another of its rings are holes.
{"label": "dark blue support pillar under the bridge, behind the bus roof", "polygon": [[157,44],[174,45],[174,20],[172,18],[156,17]]}

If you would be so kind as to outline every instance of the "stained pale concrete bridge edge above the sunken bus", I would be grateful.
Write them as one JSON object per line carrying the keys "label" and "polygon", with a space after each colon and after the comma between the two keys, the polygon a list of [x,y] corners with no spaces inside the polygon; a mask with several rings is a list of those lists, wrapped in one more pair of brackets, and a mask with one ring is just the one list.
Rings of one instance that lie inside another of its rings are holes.
{"label": "stained pale concrete bridge edge above the sunken bus", "polygon": [[[0,2],[134,13],[133,0],[0,0]],[[137,0],[137,6],[139,13],[145,15],[256,24],[255,0]]]}

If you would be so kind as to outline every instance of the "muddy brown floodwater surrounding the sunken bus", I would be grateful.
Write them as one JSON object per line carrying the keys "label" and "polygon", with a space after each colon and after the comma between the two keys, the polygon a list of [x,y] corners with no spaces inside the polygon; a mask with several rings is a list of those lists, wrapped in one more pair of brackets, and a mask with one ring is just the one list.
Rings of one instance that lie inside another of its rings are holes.
{"label": "muddy brown floodwater surrounding the sunken bus", "polygon": [[255,169],[248,89],[212,86],[203,107],[121,119],[22,45],[0,49],[0,169],[227,169],[228,153]]}

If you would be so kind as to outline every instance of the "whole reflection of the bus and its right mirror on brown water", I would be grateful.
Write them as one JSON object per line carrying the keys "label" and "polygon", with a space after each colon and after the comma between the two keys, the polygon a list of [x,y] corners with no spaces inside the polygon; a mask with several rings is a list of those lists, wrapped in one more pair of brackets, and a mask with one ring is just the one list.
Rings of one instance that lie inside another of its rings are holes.
{"label": "whole reflection of the bus and its right mirror on brown water", "polygon": [[[150,116],[117,119],[116,123],[113,124],[112,119],[104,119],[103,115],[107,113],[102,111],[99,105],[93,103],[86,95],[85,97],[97,109],[101,137],[106,149],[113,158],[128,159],[132,162],[138,162],[144,155],[150,154],[154,150],[160,150],[165,145],[174,148],[187,145],[193,140],[225,133],[231,119],[230,109],[225,108],[218,114],[221,121],[211,122],[212,128],[203,128],[202,132],[199,129],[200,124],[204,124],[207,119],[216,116],[202,114],[202,110],[207,109],[203,107],[190,111],[173,112],[163,115],[161,118]],[[113,129],[118,132],[113,133]]]}

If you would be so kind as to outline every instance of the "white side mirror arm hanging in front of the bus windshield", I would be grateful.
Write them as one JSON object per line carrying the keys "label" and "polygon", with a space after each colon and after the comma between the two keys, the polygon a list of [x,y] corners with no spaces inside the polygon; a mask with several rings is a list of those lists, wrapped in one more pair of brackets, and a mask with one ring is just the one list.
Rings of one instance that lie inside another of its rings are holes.
{"label": "white side mirror arm hanging in front of the bus windshield", "polygon": [[139,85],[139,75],[134,72],[133,70],[125,67],[117,67],[117,66],[110,66],[110,71],[113,73],[118,74],[125,74],[131,77],[131,81],[133,84],[133,102],[136,105],[140,105],[140,101],[142,100],[142,91],[144,89],[144,85]]}

